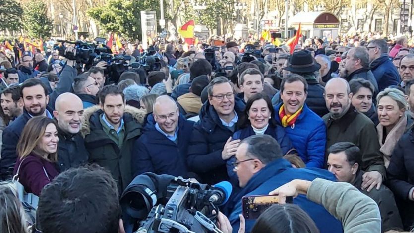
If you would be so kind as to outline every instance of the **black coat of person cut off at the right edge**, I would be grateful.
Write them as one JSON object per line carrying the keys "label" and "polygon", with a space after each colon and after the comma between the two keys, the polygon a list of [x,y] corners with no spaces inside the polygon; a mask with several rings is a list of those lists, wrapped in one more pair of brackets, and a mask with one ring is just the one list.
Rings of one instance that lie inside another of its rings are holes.
{"label": "black coat of person cut off at the right edge", "polygon": [[413,151],[414,128],[398,141],[387,168],[387,186],[394,192],[406,230],[414,224],[414,201],[409,198],[414,189]]}

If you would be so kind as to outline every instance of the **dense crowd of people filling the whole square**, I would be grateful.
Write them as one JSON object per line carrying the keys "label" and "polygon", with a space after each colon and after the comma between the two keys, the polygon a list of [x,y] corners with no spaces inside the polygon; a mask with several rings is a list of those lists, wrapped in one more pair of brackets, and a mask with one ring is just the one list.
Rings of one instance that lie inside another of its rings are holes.
{"label": "dense crowd of people filling the whole square", "polygon": [[[413,228],[407,38],[150,49],[151,70],[118,78],[107,62],[71,60],[70,46],[18,64],[0,56],[0,232],[34,222],[10,180],[39,197],[45,233],[125,232],[119,197],[146,172],[229,181],[222,232]],[[124,53],[134,63],[145,51]],[[257,220],[240,216],[243,196],[269,193],[297,197]]]}

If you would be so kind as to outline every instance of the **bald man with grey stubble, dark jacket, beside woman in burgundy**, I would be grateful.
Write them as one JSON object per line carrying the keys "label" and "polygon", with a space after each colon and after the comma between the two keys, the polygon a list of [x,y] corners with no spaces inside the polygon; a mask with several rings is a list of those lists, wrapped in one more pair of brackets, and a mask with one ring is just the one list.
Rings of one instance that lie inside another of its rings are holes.
{"label": "bald man with grey stubble, dark jacket, beside woman in burgundy", "polygon": [[59,95],[55,102],[53,115],[59,126],[57,167],[60,172],[85,164],[89,153],[79,132],[80,118],[83,115],[82,100],[69,92]]}

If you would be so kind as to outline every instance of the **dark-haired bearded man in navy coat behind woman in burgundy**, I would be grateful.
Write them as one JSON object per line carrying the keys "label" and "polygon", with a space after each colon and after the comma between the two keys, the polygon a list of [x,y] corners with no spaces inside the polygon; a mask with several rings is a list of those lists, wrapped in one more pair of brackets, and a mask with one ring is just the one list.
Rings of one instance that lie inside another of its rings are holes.
{"label": "dark-haired bearded man in navy coat behind woman in burgundy", "polygon": [[52,118],[52,114],[46,110],[49,103],[49,95],[45,84],[39,79],[27,79],[20,87],[23,99],[23,115],[17,117],[3,131],[3,145],[1,148],[0,173],[2,179],[11,178],[14,164],[16,163],[16,145],[24,126],[34,116],[46,116]]}

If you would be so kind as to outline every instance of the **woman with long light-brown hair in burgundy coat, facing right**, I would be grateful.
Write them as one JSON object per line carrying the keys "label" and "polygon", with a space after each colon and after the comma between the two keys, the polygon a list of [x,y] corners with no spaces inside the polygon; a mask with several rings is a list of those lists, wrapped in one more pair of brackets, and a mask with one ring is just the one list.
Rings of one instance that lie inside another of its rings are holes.
{"label": "woman with long light-brown hair in burgundy coat, facing right", "polygon": [[38,116],[30,119],[17,143],[18,159],[14,175],[28,193],[40,195],[43,187],[51,182],[58,171],[58,131],[54,120]]}

